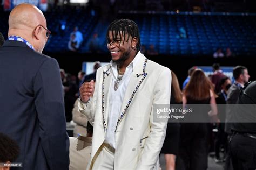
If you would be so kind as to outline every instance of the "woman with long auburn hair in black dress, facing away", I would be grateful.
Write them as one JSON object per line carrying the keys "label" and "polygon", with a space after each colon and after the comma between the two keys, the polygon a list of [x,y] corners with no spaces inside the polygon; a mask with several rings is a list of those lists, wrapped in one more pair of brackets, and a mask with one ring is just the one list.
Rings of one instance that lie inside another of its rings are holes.
{"label": "woman with long auburn hair in black dress, facing away", "polygon": [[[204,112],[200,108],[194,108],[197,118],[208,120],[209,116],[214,120],[217,119],[217,105],[215,102],[215,94],[212,83],[205,76],[203,70],[194,70],[190,81],[184,89],[183,105],[184,108],[187,104],[208,104],[211,105],[211,111]],[[192,117],[193,118],[193,117]],[[181,123],[180,129],[180,158],[184,162],[185,169],[207,169],[208,158],[208,136],[209,136],[210,122],[193,122]]]}

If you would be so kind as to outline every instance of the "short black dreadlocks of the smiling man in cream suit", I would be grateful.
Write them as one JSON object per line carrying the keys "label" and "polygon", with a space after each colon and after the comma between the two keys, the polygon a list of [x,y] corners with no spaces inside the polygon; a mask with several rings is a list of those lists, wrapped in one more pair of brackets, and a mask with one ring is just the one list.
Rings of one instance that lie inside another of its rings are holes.
{"label": "short black dreadlocks of the smiling man in cream suit", "polygon": [[[112,32],[113,42],[116,41],[118,35],[120,37],[122,37],[123,34],[124,34],[124,40],[125,40],[126,34],[128,34],[127,41],[129,40],[130,36],[132,38],[134,38],[134,37],[137,38],[138,41],[137,41],[137,45],[136,45],[136,53],[139,52],[139,49],[140,49],[139,28],[138,28],[138,25],[133,20],[130,20],[130,19],[114,20],[109,25],[109,27],[107,27],[106,40],[110,39],[109,38],[109,31]],[[123,44],[124,44],[124,41],[123,41]]]}

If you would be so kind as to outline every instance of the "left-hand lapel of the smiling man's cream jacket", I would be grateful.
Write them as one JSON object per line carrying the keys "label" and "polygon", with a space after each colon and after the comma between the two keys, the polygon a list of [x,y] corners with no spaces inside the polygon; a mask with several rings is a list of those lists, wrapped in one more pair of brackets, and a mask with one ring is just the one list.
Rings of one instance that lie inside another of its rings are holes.
{"label": "left-hand lapel of the smiling man's cream jacket", "polygon": [[109,89],[112,82],[113,74],[110,74],[111,66],[107,67],[107,70],[103,70],[103,81],[102,81],[102,123],[104,132],[107,129],[107,118],[109,114]]}

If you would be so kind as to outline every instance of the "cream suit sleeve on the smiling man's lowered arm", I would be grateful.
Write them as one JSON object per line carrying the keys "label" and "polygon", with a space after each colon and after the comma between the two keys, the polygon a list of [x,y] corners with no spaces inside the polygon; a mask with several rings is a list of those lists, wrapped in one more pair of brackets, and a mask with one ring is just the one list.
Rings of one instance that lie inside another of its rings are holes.
{"label": "cream suit sleeve on the smiling man's lowered arm", "polygon": [[[171,98],[171,71],[165,68],[159,75],[156,86],[154,87],[153,105],[155,104],[170,104]],[[153,121],[153,108],[150,113],[150,134],[147,138],[144,151],[138,162],[136,169],[153,169],[159,159],[159,153],[164,143],[166,135],[166,122]]]}

